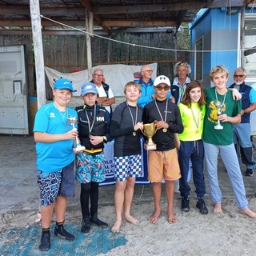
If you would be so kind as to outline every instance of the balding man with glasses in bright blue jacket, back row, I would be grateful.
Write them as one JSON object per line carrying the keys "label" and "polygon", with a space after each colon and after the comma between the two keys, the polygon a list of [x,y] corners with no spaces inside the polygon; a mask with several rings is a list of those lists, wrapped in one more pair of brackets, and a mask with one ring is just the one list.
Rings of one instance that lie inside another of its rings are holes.
{"label": "balding man with glasses in bright blue jacket, back row", "polygon": [[[138,84],[141,85],[142,94],[138,98],[138,105],[144,107],[147,103],[153,102],[156,98],[154,91],[154,80],[152,77],[153,70],[150,66],[145,65],[141,68],[141,78],[138,80]],[[170,98],[170,91],[167,94],[167,98]]]}

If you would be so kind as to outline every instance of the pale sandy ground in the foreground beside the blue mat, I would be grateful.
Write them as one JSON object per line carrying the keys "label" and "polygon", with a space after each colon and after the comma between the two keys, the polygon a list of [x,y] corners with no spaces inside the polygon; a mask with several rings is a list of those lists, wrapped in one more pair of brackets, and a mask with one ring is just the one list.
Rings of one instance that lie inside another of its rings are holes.
{"label": "pale sandy ground in the foreground beside the blue mat", "polygon": [[[255,208],[256,198],[250,197],[250,207]],[[132,213],[140,220],[139,226],[122,222],[121,234],[127,239],[125,246],[119,246],[104,255],[255,255],[256,219],[238,212],[234,199],[224,199],[223,214],[212,212],[212,204],[206,199],[209,214],[202,215],[195,207],[195,199],[190,200],[191,210],[180,210],[180,199],[175,199],[174,207],[178,222],[166,221],[166,202],[162,201],[162,215],[156,224],[147,218],[154,210],[152,202],[138,202],[132,206]],[[254,206],[254,207],[253,207]],[[114,224],[114,206],[101,206],[99,216]],[[38,225],[36,212],[22,214],[2,214],[1,233],[11,227]],[[66,222],[80,222],[79,210],[69,211]],[[0,234],[1,234],[0,233]],[[100,254],[103,255],[103,254]]]}

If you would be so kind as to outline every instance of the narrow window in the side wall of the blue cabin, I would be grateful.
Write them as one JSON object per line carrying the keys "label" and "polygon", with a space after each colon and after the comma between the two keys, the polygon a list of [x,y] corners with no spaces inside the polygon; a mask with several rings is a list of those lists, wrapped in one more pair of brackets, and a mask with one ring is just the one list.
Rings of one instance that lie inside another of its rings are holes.
{"label": "narrow window in the side wall of the blue cabin", "polygon": [[203,79],[203,63],[202,63],[202,58],[203,58],[203,38],[199,38],[195,42],[194,46],[194,78],[198,81],[202,81]]}

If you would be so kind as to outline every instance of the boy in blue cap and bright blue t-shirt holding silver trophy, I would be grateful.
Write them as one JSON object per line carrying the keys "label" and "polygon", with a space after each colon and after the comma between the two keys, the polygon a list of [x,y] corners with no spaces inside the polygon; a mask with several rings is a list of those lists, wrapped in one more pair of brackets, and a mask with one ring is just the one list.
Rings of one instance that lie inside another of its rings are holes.
{"label": "boy in blue cap and bright blue t-shirt holding silver trophy", "polygon": [[68,241],[74,235],[64,229],[67,198],[74,198],[74,138],[78,134],[67,122],[77,117],[75,110],[67,106],[74,92],[71,82],[65,78],[54,84],[54,102],[42,106],[34,121],[38,186],[41,198],[42,238],[40,250],[50,249],[50,221],[55,208],[54,234]]}

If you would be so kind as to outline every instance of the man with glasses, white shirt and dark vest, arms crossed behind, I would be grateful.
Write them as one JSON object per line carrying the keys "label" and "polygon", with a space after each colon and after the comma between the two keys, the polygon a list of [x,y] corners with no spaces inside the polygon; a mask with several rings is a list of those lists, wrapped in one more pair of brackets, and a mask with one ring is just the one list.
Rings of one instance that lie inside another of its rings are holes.
{"label": "man with glasses, white shirt and dark vest, arms crossed behind", "polygon": [[115,103],[115,98],[113,91],[111,90],[110,86],[103,82],[103,70],[102,69],[94,69],[93,80],[90,82],[96,85],[98,90],[98,98],[97,103],[98,105],[105,106],[106,110],[112,114],[112,106]]}

